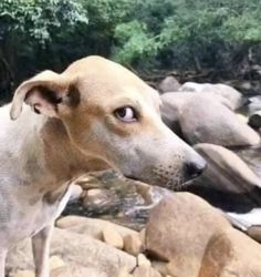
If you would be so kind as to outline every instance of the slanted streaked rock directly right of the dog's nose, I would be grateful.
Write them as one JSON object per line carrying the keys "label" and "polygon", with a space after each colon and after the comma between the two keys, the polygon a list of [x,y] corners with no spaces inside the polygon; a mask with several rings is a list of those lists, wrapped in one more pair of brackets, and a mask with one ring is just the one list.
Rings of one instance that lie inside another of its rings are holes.
{"label": "slanted streaked rock directly right of the dog's nose", "polygon": [[233,152],[208,143],[197,144],[195,150],[208,164],[195,183],[232,193],[246,193],[255,186],[261,187],[260,178]]}

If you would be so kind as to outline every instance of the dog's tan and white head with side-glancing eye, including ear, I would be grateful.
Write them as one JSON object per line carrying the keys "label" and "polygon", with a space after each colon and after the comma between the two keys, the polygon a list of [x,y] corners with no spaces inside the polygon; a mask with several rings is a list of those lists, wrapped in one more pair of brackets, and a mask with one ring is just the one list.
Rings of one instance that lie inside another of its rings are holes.
{"label": "dog's tan and white head with side-glancing eye, including ear", "polygon": [[11,117],[25,101],[36,113],[59,117],[75,147],[124,175],[177,187],[198,176],[205,161],[163,122],[158,93],[122,65],[100,57],[44,71],[15,91]]}

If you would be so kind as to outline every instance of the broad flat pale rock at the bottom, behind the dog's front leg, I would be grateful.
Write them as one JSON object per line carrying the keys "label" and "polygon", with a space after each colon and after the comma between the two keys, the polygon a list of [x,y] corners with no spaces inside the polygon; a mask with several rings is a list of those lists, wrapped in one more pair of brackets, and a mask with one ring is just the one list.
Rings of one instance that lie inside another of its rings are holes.
{"label": "broad flat pale rock at the bottom, behind the dog's front leg", "polygon": [[[119,268],[128,271],[136,267],[136,258],[87,235],[66,229],[54,229],[51,256],[62,257],[66,274],[61,277],[115,277]],[[7,270],[32,270],[31,242],[27,239],[9,253]]]}

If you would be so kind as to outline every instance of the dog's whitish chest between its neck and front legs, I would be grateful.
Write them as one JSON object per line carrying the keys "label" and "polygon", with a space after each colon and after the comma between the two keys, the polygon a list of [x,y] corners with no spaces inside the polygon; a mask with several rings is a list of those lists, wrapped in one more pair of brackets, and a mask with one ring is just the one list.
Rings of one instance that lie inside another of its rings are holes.
{"label": "dog's whitish chest between its neck and front legs", "polygon": [[17,193],[0,187],[0,245],[15,244],[51,224],[66,205],[71,187],[64,185],[42,196]]}

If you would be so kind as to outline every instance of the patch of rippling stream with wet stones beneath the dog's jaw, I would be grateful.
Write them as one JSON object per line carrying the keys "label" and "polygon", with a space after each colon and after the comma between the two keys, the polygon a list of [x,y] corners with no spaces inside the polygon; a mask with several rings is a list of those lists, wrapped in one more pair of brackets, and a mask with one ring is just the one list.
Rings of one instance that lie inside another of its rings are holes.
{"label": "patch of rippling stream with wet stones beneath the dog's jaw", "polygon": [[128,179],[114,171],[93,172],[74,183],[84,188],[84,196],[67,205],[63,215],[102,217],[135,229],[143,228],[149,209],[169,194],[163,187]]}

